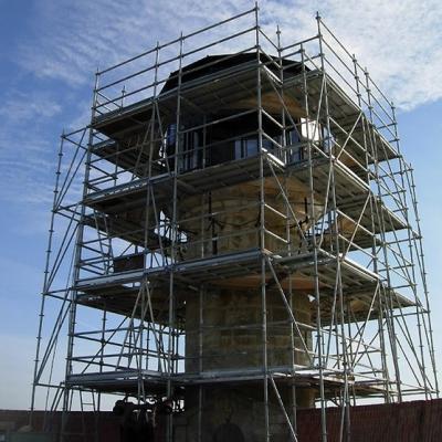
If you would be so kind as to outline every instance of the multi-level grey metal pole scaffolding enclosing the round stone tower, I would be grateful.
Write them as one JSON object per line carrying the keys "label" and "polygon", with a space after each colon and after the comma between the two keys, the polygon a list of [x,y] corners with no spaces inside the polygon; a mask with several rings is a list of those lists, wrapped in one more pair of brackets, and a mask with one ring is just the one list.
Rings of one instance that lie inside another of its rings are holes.
{"label": "multi-level grey metal pole scaffolding enclosing the round stone tower", "polygon": [[[256,6],[96,73],[91,124],[61,137],[31,409],[42,390],[66,419],[109,396],[167,399],[160,440],[203,441],[204,389],[248,385],[260,440],[297,440],[304,391],[325,442],[328,407],[350,440],[351,406],[439,396],[394,106],[316,20],[315,35],[283,45]],[[219,202],[232,192],[235,204]],[[213,287],[242,286],[260,320],[207,320]],[[236,368],[208,344],[224,332],[260,336]]]}

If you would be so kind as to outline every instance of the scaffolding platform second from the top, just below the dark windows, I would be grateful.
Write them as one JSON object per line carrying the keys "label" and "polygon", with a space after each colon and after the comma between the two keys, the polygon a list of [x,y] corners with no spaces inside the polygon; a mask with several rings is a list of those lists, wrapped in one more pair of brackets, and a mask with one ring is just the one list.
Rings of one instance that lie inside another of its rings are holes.
{"label": "scaffolding platform second from the top, just below the dark windows", "polygon": [[[297,179],[308,188],[311,167],[308,161],[294,162],[284,166],[277,158],[270,154],[263,154],[264,172],[266,177],[286,171],[291,178]],[[315,189],[318,194],[325,197],[329,188],[328,158],[313,160],[312,171]],[[369,186],[339,160],[333,161],[335,186],[337,187],[338,202],[350,203],[360,201],[360,197],[368,194]],[[179,175],[177,180],[178,197],[200,194],[221,187],[234,186],[241,182],[256,180],[260,173],[260,157],[254,156],[234,161],[227,161],[217,166],[197,169]],[[173,175],[162,173],[143,179],[135,179],[118,186],[109,187],[101,191],[92,192],[84,199],[84,204],[105,213],[118,212],[122,209],[137,207],[146,201],[151,189],[156,201],[168,200],[173,192]]]}

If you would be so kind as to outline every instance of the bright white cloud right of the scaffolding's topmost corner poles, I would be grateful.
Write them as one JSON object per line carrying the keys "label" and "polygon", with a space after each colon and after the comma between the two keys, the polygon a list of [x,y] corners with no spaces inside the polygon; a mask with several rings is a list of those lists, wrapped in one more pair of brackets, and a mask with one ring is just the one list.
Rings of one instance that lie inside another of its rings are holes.
{"label": "bright white cloud right of the scaffolding's topmost corner poles", "polygon": [[324,2],[323,15],[371,76],[404,109],[442,96],[439,1]]}

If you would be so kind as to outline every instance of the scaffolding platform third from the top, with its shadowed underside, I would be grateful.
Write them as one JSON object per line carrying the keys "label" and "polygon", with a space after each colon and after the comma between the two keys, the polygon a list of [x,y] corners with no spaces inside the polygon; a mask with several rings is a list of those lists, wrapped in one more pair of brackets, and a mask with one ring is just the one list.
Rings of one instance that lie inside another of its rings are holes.
{"label": "scaffolding platform third from the top, with its shadowed underside", "polygon": [[[315,273],[312,266],[313,253],[304,253],[293,256],[275,256],[269,252],[250,251],[214,256],[204,260],[194,260],[187,263],[177,263],[168,271],[173,272],[177,278],[176,299],[178,308],[183,308],[183,294],[191,291],[199,282],[210,282],[220,287],[256,287],[262,284],[261,265],[263,259],[270,259],[275,272],[280,275],[280,284],[287,288],[288,283],[295,291],[312,293],[315,285]],[[232,265],[235,263],[235,265]],[[320,308],[324,312],[325,322],[332,316],[333,299],[336,295],[337,266],[340,267],[341,290],[345,303],[354,306],[354,320],[365,320],[370,313],[370,318],[377,318],[379,305],[373,303],[376,293],[383,293],[379,276],[360,266],[349,259],[340,259],[320,251],[317,257],[318,280],[320,286]],[[125,316],[139,317],[139,308],[134,312],[135,302],[140,290],[141,281],[149,281],[151,303],[155,309],[155,318],[160,323],[165,320],[162,305],[167,308],[169,299],[168,280],[165,269],[151,271],[133,271],[119,274],[109,274],[102,277],[78,281],[75,290],[78,291],[76,302],[78,304],[108,309]],[[265,284],[272,285],[273,278],[270,270],[266,271]],[[129,284],[133,284],[130,287]],[[380,295],[379,295],[380,296]],[[394,293],[391,296],[392,308],[410,307],[413,302]],[[348,320],[352,320],[348,317]]]}

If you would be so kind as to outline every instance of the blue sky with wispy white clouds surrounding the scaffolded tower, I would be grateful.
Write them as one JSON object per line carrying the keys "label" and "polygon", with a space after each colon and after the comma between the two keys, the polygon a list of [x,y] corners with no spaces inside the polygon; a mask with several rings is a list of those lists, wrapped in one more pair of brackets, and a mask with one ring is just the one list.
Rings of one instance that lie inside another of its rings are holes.
{"label": "blue sky with wispy white clouds surrounding the scaffolded tower", "polygon": [[[249,0],[0,0],[0,408],[29,406],[59,135],[87,122],[94,72],[251,7]],[[264,0],[261,8],[266,30],[280,23],[287,40],[309,36],[319,10],[397,104],[402,151],[415,167],[442,357],[442,4]]]}

